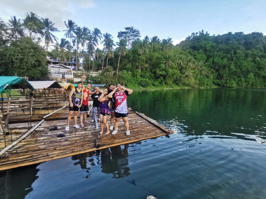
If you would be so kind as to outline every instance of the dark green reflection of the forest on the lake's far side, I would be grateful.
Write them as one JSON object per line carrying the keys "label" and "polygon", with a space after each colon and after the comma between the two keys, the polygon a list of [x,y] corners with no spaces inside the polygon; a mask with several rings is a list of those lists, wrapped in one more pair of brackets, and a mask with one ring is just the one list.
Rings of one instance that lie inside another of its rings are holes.
{"label": "dark green reflection of the forest on the lake's far side", "polygon": [[132,94],[128,106],[183,136],[264,143],[266,92],[258,91],[265,90],[143,90]]}

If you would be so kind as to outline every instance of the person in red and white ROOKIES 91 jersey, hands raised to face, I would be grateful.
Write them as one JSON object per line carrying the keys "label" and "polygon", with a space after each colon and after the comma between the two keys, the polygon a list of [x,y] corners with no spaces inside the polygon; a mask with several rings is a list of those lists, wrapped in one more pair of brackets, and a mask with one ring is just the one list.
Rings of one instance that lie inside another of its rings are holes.
{"label": "person in red and white ROOKIES 91 jersey, hands raised to face", "polygon": [[124,125],[126,127],[126,135],[129,136],[129,124],[128,124],[128,104],[127,104],[127,96],[130,95],[133,90],[125,88],[122,84],[117,84],[116,88],[109,93],[109,98],[114,98],[115,100],[115,107],[114,107],[114,116],[115,116],[115,123],[114,123],[114,131],[112,132],[115,135],[118,131],[118,124],[120,118],[122,117]]}

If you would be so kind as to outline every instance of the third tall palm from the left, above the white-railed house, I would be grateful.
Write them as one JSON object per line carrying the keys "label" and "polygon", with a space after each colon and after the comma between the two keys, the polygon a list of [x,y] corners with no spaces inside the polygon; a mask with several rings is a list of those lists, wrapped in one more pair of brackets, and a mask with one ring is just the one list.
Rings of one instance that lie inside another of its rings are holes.
{"label": "third tall palm from the left, above the white-railed house", "polygon": [[48,18],[41,18],[42,19],[42,23],[44,24],[44,41],[46,44],[46,52],[48,51],[48,45],[49,43],[54,43],[53,39],[55,39],[57,41],[57,38],[55,35],[52,34],[52,32],[60,32],[59,30],[57,30],[57,28],[54,27],[54,23],[52,21],[50,21]]}

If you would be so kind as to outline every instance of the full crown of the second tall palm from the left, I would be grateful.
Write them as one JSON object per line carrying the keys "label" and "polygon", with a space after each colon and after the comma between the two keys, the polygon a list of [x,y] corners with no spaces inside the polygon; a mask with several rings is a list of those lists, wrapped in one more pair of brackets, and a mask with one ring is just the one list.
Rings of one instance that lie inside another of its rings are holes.
{"label": "full crown of the second tall palm from the left", "polygon": [[35,35],[36,33],[43,35],[42,29],[44,28],[44,24],[41,22],[39,16],[37,16],[35,13],[27,13],[23,25],[29,30],[30,37],[32,36],[32,33],[35,33]]}

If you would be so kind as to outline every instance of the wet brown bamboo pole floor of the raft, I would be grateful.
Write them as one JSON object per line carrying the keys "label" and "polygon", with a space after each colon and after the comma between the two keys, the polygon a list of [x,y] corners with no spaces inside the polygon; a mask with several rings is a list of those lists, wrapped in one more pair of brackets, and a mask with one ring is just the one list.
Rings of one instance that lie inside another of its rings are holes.
{"label": "wet brown bamboo pole floor of the raft", "polygon": [[[0,170],[41,163],[173,133],[151,118],[145,119],[133,111],[129,112],[128,115],[130,136],[126,136],[126,129],[122,119],[116,135],[111,133],[104,135],[106,132],[105,126],[103,134],[96,133],[95,123],[85,124],[84,128],[77,129],[73,127],[73,118],[70,122],[70,131],[65,131],[68,113],[68,107],[66,107],[52,114],[35,131],[0,156]],[[87,121],[90,120],[91,113],[90,117],[87,118]],[[31,123],[31,126],[33,127],[36,123],[38,122]],[[78,124],[80,124],[79,118]],[[100,123],[98,125],[100,131]],[[52,127],[57,127],[58,129],[50,131],[49,129]],[[12,133],[6,136],[7,144],[11,144],[27,129],[28,123],[13,124]],[[99,148],[95,146],[95,139],[98,141]],[[5,147],[3,145],[3,135],[0,136],[0,141],[2,150]]]}

